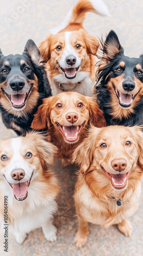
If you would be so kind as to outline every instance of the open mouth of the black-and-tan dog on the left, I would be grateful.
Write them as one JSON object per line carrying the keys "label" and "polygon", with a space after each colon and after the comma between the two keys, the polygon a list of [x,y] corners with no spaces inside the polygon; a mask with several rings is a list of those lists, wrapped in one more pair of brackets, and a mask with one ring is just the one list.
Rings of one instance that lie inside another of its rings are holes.
{"label": "open mouth of the black-and-tan dog on the left", "polygon": [[31,93],[32,87],[30,88],[29,92],[27,93],[17,93],[17,94],[7,94],[3,89],[3,94],[6,95],[6,97],[8,98],[8,100],[10,101],[12,107],[14,109],[23,109],[23,107],[25,107],[27,99]]}

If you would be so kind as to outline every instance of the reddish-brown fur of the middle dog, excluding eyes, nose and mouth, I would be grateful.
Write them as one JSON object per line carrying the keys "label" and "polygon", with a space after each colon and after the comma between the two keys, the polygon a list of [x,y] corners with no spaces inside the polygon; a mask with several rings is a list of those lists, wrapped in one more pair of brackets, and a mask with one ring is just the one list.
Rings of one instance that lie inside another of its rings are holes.
{"label": "reddish-brown fur of the middle dog, excluding eyes, nose and mouth", "polygon": [[[78,108],[79,102],[84,104],[84,108]],[[57,103],[61,103],[63,108],[56,109]],[[85,121],[79,140],[75,143],[65,142],[56,125],[56,123],[64,126],[69,125],[65,118],[68,112],[76,112],[78,114],[79,119],[76,125],[81,125]],[[98,127],[106,125],[103,112],[99,109],[94,99],[77,92],[64,92],[43,100],[43,104],[39,106],[37,113],[34,115],[31,127],[33,129],[45,129],[48,127],[50,141],[59,149],[57,157],[61,158],[64,165],[66,165],[70,163],[71,154],[86,136],[87,127],[91,124]]]}

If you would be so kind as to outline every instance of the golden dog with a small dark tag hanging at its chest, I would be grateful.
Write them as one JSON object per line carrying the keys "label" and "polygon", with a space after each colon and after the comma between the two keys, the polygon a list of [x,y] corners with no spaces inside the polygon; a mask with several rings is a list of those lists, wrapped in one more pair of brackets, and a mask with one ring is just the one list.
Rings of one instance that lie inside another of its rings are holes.
{"label": "golden dog with a small dark tag hanging at its chest", "polygon": [[143,168],[143,142],[139,126],[91,127],[76,148],[73,161],[80,165],[75,204],[79,229],[75,243],[87,242],[88,222],[106,228],[117,224],[130,236],[128,218],[138,207]]}

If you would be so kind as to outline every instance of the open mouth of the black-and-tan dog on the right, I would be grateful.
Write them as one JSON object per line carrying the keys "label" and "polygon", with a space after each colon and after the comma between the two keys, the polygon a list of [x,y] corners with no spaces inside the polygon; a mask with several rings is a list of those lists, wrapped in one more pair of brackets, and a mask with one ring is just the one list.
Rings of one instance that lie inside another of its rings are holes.
{"label": "open mouth of the black-and-tan dog on the right", "polygon": [[122,108],[130,108],[130,106],[132,105],[132,102],[134,100],[134,98],[137,96],[137,94],[128,94],[128,93],[121,93],[118,92],[115,88],[115,86],[113,85],[114,91],[115,91],[115,95],[118,99],[118,103],[121,105]]}

